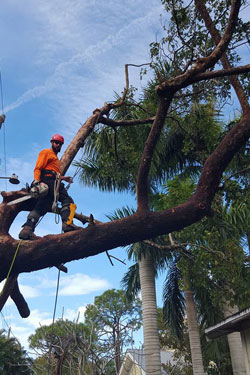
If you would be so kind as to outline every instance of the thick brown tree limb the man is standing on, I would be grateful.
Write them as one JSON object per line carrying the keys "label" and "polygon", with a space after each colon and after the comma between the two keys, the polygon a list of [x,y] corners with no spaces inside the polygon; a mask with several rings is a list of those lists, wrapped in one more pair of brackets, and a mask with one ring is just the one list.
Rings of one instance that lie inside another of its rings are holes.
{"label": "thick brown tree limb the man is standing on", "polygon": [[[23,241],[13,272],[31,272],[60,263],[100,254],[158,235],[180,230],[211,213],[211,203],[228,163],[250,136],[250,119],[244,116],[206,161],[197,189],[184,204],[162,212],[138,211],[134,215],[86,229]],[[2,203],[3,205],[3,203]],[[0,237],[0,275],[6,277],[17,246],[10,236]]]}

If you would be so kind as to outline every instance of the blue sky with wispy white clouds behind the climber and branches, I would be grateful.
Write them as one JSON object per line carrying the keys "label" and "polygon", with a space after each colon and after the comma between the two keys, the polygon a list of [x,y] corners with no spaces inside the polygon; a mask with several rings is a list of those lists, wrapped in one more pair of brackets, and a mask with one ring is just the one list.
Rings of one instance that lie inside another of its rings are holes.
{"label": "blue sky with wispy white clouds behind the climber and branches", "polygon": [[[21,180],[17,187],[0,180],[0,190],[13,190],[32,181],[37,155],[50,147],[53,133],[63,134],[67,147],[92,111],[112,100],[114,91],[123,90],[126,63],[149,61],[148,46],[161,33],[163,9],[160,0],[3,0],[0,11],[0,69],[6,113],[0,132],[0,176],[5,174],[5,138],[7,175],[15,172]],[[130,83],[141,87],[139,69],[130,69]],[[81,152],[77,158],[80,156]],[[93,213],[101,221],[106,221],[105,214],[115,208],[135,205],[133,197],[99,193],[77,180],[70,195],[78,212]],[[20,214],[13,223],[11,234],[15,238],[26,215]],[[60,230],[60,224],[48,214],[36,233]],[[126,258],[123,249],[111,253]],[[75,319],[96,295],[119,288],[128,264],[114,263],[112,267],[101,254],[67,264],[68,274],[61,274],[56,316]],[[10,301],[3,309],[2,327],[6,329],[6,323],[11,326],[12,334],[26,347],[27,337],[40,324],[52,321],[56,280],[55,268],[20,275],[20,289],[31,315],[21,319]]]}

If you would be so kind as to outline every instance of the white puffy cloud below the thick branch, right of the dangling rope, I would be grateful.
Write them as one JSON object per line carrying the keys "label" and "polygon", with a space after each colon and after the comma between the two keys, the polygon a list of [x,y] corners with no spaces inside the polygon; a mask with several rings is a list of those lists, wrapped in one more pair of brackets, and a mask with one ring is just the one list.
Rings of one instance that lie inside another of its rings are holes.
{"label": "white puffy cloud below the thick branch, right of the dangling rope", "polygon": [[62,296],[83,295],[110,288],[107,280],[81,273],[63,277],[60,286],[59,294]]}

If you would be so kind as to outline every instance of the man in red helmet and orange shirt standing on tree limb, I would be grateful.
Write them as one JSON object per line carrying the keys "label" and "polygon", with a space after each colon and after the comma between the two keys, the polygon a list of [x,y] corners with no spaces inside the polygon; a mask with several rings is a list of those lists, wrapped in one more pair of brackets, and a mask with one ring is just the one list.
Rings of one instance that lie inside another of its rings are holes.
{"label": "man in red helmet and orange shirt standing on tree limb", "polygon": [[56,195],[58,200],[62,203],[60,215],[62,218],[62,231],[70,232],[72,230],[80,229],[73,224],[73,217],[76,210],[76,205],[73,199],[68,195],[64,184],[66,181],[71,183],[72,178],[69,176],[60,175],[60,160],[57,157],[62,145],[64,144],[63,136],[59,134],[53,135],[51,138],[51,148],[44,149],[38,155],[36,166],[34,169],[34,181],[32,185],[39,186],[39,184],[46,184],[48,186],[48,193],[46,196],[38,197],[33,210],[29,213],[26,223],[19,233],[19,238],[22,240],[29,240],[34,235],[36,224],[41,216],[52,208],[53,201],[55,202]]}

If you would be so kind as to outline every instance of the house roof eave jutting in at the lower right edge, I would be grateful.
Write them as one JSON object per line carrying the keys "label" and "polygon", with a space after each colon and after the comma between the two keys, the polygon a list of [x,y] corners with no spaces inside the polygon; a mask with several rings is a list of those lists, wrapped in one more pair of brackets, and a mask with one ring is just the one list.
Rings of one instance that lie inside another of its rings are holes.
{"label": "house roof eave jutting in at the lower right edge", "polygon": [[205,334],[209,339],[215,339],[232,332],[241,332],[248,328],[250,328],[250,308],[233,314],[222,322],[207,328]]}

